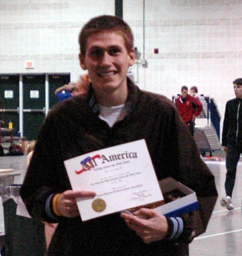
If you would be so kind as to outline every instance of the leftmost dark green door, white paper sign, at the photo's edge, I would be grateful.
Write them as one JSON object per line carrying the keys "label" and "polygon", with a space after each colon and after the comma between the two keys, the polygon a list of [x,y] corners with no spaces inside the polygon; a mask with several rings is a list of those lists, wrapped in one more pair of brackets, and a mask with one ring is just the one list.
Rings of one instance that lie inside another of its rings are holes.
{"label": "leftmost dark green door, white paper sign, at the photo's edge", "polygon": [[11,121],[13,136],[17,136],[19,131],[19,75],[0,75],[0,120],[2,127],[6,128]]}

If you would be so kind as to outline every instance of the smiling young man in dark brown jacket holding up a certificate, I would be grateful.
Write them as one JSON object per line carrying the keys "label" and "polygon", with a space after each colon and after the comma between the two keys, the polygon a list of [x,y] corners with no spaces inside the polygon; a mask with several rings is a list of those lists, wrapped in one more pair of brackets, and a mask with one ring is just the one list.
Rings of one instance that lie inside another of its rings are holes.
{"label": "smiling young man in dark brown jacket holding up a certificate", "polygon": [[[49,112],[20,191],[32,217],[59,223],[47,255],[188,255],[188,244],[205,231],[216,202],[214,176],[173,103],[127,77],[135,55],[123,20],[91,19],[79,44],[89,90]],[[94,197],[95,191],[72,191],[63,161],[140,139],[146,140],[158,180],[172,176],[192,188],[200,209],[166,218],[142,208],[82,222],[75,199]]]}

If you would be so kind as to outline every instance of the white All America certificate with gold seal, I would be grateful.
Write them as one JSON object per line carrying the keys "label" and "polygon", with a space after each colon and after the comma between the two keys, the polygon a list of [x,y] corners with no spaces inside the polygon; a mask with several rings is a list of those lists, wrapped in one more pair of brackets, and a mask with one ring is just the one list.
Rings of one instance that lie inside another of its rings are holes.
{"label": "white All America certificate with gold seal", "polygon": [[64,161],[82,221],[163,200],[145,140],[125,143]]}

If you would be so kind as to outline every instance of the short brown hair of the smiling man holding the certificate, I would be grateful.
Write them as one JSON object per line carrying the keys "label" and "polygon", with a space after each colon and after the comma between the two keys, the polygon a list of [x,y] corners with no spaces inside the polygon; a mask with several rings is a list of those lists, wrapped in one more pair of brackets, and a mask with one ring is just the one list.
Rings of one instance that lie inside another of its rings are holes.
{"label": "short brown hair of the smiling man holding the certificate", "polygon": [[134,36],[130,26],[125,21],[116,16],[102,15],[89,20],[79,33],[78,41],[82,57],[84,57],[86,54],[87,38],[90,35],[99,33],[101,31],[120,33],[124,38],[125,47],[128,53],[132,51],[134,47]]}

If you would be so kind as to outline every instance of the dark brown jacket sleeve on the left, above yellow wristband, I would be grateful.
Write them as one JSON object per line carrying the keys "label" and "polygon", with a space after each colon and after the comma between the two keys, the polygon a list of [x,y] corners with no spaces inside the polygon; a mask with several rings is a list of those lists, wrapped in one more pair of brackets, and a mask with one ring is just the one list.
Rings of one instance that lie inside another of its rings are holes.
{"label": "dark brown jacket sleeve on the left, above yellow wristband", "polygon": [[51,119],[48,115],[40,129],[33,156],[20,189],[20,196],[31,217],[41,221],[56,222],[46,214],[45,203],[51,194],[63,192],[66,187],[60,185],[63,183],[60,177],[65,180],[65,172],[63,172],[63,161],[59,158],[61,152],[59,152],[58,133],[55,122]]}

